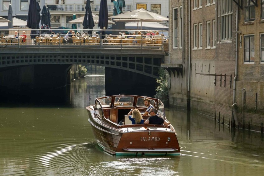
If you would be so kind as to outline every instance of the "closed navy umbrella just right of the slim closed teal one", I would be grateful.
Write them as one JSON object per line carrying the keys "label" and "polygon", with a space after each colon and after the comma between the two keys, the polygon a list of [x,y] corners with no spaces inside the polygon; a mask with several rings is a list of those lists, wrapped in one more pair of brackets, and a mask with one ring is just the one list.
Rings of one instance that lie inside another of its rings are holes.
{"label": "closed navy umbrella just right of the slim closed teal one", "polygon": [[[87,0],[85,6],[85,15],[83,19],[84,29],[94,29],[94,14],[92,14],[90,0]],[[92,34],[92,31],[88,31],[88,34]]]}

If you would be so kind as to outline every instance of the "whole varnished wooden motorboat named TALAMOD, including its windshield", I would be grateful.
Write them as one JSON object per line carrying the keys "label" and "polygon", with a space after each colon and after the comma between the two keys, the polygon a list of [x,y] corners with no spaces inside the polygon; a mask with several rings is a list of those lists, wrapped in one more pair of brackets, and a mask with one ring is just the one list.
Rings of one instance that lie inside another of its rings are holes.
{"label": "whole varnished wooden motorboat named TALAMOD, including its windshield", "polygon": [[[149,97],[106,96],[96,98],[94,105],[86,107],[96,142],[112,155],[180,155],[172,125],[132,125],[127,118],[132,108],[137,108],[142,114],[146,112],[144,98]],[[163,103],[156,98],[149,99],[159,116],[166,119]]]}

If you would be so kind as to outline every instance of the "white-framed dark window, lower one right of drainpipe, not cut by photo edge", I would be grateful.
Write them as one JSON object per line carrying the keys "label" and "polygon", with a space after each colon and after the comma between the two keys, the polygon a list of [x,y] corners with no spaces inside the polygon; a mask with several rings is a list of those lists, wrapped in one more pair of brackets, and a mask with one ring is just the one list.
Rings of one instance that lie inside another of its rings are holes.
{"label": "white-framed dark window, lower one right of drainpipe, not cut by photo edge", "polygon": [[244,62],[254,62],[255,41],[254,36],[244,37]]}

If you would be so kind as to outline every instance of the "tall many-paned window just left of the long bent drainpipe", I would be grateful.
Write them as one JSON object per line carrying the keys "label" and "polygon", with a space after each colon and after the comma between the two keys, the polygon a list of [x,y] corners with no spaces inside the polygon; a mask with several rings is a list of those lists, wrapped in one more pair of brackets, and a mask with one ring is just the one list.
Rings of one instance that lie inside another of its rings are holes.
{"label": "tall many-paned window just left of the long bent drainpipe", "polygon": [[221,1],[221,40],[232,40],[233,1]]}

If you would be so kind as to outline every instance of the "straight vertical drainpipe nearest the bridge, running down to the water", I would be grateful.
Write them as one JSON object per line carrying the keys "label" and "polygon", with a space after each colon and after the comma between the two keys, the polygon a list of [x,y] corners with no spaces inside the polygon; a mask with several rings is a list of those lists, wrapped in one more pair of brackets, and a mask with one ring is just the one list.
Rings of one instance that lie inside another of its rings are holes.
{"label": "straight vertical drainpipe nearest the bridge, running down to the water", "polygon": [[188,0],[188,10],[189,10],[189,19],[188,19],[188,42],[189,42],[189,56],[188,56],[188,92],[187,92],[187,109],[190,109],[190,78],[191,78],[191,5],[190,5],[190,0]]}

